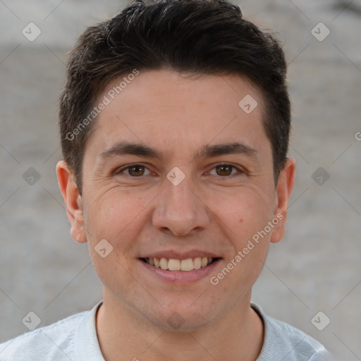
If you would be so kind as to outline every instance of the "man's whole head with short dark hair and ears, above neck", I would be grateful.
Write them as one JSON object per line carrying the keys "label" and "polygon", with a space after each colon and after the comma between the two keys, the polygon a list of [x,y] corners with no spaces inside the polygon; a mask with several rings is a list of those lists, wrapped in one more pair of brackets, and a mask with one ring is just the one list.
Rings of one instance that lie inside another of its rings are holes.
{"label": "man's whole head with short dark hair and ears, above neck", "polygon": [[[133,1],[79,37],[59,118],[71,233],[89,243],[104,292],[164,327],[177,311],[190,328],[250,293],[269,242],[283,238],[295,171],[286,61],[274,37],[226,1]],[[104,239],[111,252],[99,257]],[[144,258],[182,250],[209,250],[216,272],[238,268],[216,285],[209,274],[171,288],[142,273]],[[200,285],[221,297],[195,301]]]}

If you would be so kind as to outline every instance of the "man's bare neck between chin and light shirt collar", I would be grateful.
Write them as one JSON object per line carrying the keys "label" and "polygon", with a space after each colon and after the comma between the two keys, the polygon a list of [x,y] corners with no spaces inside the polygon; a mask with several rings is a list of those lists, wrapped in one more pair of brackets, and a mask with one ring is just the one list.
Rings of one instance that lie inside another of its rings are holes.
{"label": "man's bare neck between chin and light shirt collar", "polygon": [[96,327],[106,361],[255,361],[261,352],[264,326],[250,292],[216,322],[190,331],[157,327],[106,290],[103,295]]}

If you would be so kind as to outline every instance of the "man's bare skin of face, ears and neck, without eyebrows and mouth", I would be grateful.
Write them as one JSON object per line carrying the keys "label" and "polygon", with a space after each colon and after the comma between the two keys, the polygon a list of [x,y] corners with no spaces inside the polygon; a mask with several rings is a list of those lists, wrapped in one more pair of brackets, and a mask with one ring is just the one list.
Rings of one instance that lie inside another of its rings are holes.
{"label": "man's bare skin of face, ears and neck, without eyebrows and mouth", "polygon": [[[118,83],[111,82],[99,99]],[[258,103],[250,114],[238,106],[247,94]],[[88,243],[103,283],[97,334],[106,361],[256,360],[264,330],[250,308],[251,288],[269,243],[285,234],[295,174],[289,158],[274,184],[263,111],[259,90],[240,75],[185,79],[169,70],[144,71],[97,118],[85,147],[82,197],[73,173],[59,161],[56,172],[71,235]],[[120,141],[147,145],[163,159],[100,157]],[[206,145],[229,142],[254,152],[196,157]],[[142,167],[115,173],[135,164]],[[185,175],[178,185],[166,178],[173,167]],[[277,214],[283,219],[224,279],[210,283]],[[102,239],[113,247],[105,258],[94,250]],[[191,250],[221,260],[197,281],[171,282],[139,259]],[[168,322],[174,312],[184,321],[179,329]]]}

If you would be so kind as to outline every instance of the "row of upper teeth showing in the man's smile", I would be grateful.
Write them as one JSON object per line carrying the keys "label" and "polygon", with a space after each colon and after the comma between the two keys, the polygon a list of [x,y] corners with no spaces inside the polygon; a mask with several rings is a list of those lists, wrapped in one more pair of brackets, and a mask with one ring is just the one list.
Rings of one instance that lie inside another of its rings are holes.
{"label": "row of upper teeth showing in the man's smile", "polygon": [[212,262],[211,257],[195,257],[187,259],[166,259],[166,258],[146,258],[145,262],[154,267],[169,269],[170,271],[192,271],[206,267]]}

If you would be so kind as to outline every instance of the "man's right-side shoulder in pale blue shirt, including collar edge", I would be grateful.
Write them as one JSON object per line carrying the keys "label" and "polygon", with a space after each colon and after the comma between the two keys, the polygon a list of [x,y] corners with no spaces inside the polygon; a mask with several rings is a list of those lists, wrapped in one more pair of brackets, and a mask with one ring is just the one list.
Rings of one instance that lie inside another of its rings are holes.
{"label": "man's right-side shoulder in pale blue shirt, including collar edge", "polygon": [[259,305],[251,303],[264,322],[264,344],[257,361],[331,361],[328,350],[300,329],[267,316]]}

